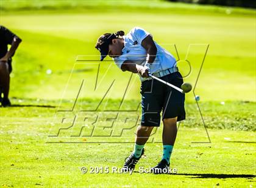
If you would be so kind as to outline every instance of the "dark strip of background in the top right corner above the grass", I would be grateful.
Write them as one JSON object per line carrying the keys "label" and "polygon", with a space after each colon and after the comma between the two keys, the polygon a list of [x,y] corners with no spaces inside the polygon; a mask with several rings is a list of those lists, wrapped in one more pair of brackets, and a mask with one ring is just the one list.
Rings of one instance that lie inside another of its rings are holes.
{"label": "dark strip of background in the top right corner above the grass", "polygon": [[256,8],[256,0],[168,0],[172,2],[188,2],[195,4],[212,4],[230,7]]}

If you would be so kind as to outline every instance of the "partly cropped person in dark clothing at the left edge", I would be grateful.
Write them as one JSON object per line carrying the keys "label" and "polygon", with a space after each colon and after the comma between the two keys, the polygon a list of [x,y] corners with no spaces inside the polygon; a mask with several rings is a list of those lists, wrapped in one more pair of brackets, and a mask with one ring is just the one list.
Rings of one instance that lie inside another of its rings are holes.
{"label": "partly cropped person in dark clothing at the left edge", "polygon": [[[14,55],[21,39],[0,25],[0,102],[4,107],[10,106],[9,88],[10,73],[12,72],[12,56]],[[8,44],[11,45],[8,50]]]}

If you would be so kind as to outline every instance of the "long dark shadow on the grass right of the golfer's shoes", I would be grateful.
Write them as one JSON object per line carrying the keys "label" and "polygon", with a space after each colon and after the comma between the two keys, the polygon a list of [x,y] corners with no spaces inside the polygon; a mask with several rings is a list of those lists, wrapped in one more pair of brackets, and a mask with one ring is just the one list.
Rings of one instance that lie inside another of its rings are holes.
{"label": "long dark shadow on the grass right of the golfer's shoes", "polygon": [[249,174],[176,173],[175,175],[191,176],[190,178],[255,178],[255,175]]}

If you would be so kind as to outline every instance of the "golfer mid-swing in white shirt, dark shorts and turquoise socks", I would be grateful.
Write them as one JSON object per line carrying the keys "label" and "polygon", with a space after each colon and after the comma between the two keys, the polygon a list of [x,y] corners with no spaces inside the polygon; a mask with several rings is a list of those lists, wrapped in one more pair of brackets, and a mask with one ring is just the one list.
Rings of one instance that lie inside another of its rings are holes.
{"label": "golfer mid-swing in white shirt, dark shorts and turquoise socks", "polygon": [[167,172],[172,148],[177,135],[177,121],[185,119],[185,95],[149,77],[149,72],[166,82],[180,87],[183,83],[176,67],[176,59],[153,41],[152,35],[140,27],[130,30],[105,33],[100,36],[96,49],[101,52],[101,61],[109,55],[123,70],[138,73],[141,79],[141,125],[132,154],[126,159],[123,170],[133,170],[154,127],[163,121],[163,156],[160,163],[151,170],[154,173]]}

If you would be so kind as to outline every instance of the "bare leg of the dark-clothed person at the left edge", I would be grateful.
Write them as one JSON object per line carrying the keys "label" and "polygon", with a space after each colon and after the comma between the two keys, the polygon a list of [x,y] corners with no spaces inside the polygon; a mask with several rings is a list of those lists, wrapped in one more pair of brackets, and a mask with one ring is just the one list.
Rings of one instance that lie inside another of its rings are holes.
{"label": "bare leg of the dark-clothed person at the left edge", "polygon": [[4,99],[7,99],[9,95],[10,74],[7,63],[2,61],[0,61],[0,86],[2,87],[2,93],[4,93]]}

